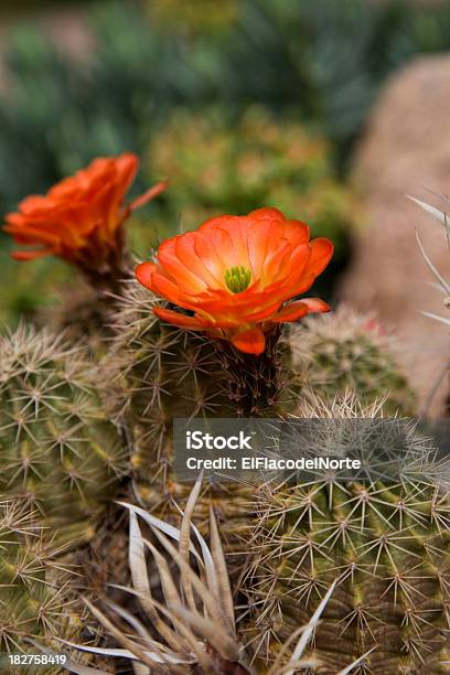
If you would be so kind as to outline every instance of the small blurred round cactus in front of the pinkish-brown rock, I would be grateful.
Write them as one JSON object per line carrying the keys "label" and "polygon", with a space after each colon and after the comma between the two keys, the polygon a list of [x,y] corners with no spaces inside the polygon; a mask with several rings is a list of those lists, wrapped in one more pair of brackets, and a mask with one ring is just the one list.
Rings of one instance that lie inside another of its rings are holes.
{"label": "small blurred round cactus in front of the pinkish-brown rock", "polygon": [[290,339],[298,377],[321,398],[355,392],[362,400],[384,398],[384,413],[413,415],[415,394],[396,363],[395,340],[373,314],[341,306],[307,318]]}

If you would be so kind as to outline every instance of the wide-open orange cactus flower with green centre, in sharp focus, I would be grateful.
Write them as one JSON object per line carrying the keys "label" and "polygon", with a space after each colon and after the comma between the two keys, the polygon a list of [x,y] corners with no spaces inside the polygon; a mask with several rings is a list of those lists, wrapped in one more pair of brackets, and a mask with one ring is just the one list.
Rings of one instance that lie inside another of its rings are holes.
{"label": "wide-open orange cactus flower with green centre, in sharp focus", "polygon": [[210,218],[195,232],[167,239],[156,261],[139,265],[136,277],[189,312],[156,308],[160,319],[261,354],[275,325],[330,310],[317,298],[288,300],[309,290],[332,255],[332,243],[310,240],[301,221],[259,208]]}

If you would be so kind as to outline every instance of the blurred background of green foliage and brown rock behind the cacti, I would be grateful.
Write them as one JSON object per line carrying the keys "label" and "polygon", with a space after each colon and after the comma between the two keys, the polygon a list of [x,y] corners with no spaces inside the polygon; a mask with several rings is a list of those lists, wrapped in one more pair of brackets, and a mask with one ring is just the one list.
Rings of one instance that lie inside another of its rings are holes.
{"label": "blurred background of green foliage and brown rock behind the cacti", "polygon": [[[277,206],[333,239],[317,292],[394,325],[426,397],[448,344],[418,311],[441,299],[415,227],[443,272],[449,256],[403,193],[449,190],[449,49],[439,0],[2,0],[0,211],[122,151],[141,158],[136,193],[171,181],[130,223],[139,257],[205,217]],[[72,274],[10,247],[0,235],[3,324]]]}

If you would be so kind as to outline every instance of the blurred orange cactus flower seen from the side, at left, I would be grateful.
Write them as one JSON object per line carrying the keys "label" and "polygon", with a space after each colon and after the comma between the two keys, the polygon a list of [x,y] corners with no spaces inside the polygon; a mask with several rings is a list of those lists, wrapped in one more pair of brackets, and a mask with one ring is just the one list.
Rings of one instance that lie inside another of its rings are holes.
{"label": "blurred orange cactus flower seen from the side, at left", "polygon": [[165,188],[158,183],[130,204],[125,195],[135,180],[136,154],[98,158],[86,169],[54,185],[45,195],[31,195],[6,216],[3,229],[32,250],[12,254],[17,260],[54,255],[84,271],[101,275],[121,262],[122,224]]}

